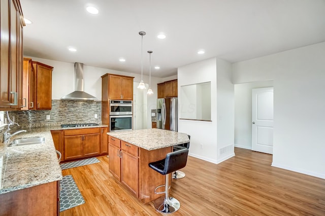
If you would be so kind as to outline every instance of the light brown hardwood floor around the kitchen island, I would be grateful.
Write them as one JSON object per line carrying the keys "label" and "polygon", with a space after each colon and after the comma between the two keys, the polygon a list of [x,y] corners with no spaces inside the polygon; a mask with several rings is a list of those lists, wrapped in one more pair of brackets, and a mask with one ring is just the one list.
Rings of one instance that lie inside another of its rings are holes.
{"label": "light brown hardwood floor around the kitchen island", "polygon": [[[220,164],[188,157],[186,177],[172,182],[181,208],[173,215],[325,215],[325,179],[272,167],[272,155],[235,148]],[[161,215],[124,189],[101,162],[62,170],[71,174],[85,204],[65,215]]]}

